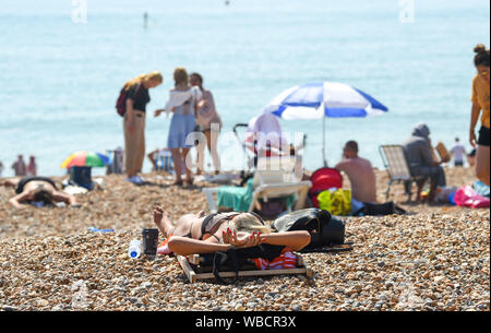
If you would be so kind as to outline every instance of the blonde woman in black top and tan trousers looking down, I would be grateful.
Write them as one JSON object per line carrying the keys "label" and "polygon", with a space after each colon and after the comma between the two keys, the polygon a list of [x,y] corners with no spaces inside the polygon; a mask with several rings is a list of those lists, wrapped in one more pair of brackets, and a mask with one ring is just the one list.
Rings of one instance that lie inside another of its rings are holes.
{"label": "blonde woman in black top and tan trousers looking down", "polygon": [[145,111],[151,100],[148,90],[160,85],[164,78],[157,71],[140,75],[124,84],[127,91],[124,129],[124,166],[127,180],[143,183],[137,176],[145,158]]}

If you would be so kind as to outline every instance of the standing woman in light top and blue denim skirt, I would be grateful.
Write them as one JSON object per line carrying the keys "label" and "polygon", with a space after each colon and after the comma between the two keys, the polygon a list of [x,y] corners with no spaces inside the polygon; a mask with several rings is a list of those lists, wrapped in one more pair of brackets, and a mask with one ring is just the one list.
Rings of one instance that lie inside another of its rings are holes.
{"label": "standing woman in light top and blue denim skirt", "polygon": [[182,167],[185,171],[185,182],[192,185],[192,173],[185,163],[185,157],[192,144],[187,143],[187,138],[195,128],[194,110],[201,99],[201,93],[197,88],[189,86],[188,72],[183,68],[177,68],[173,71],[173,81],[175,87],[170,90],[166,108],[156,110],[155,117],[158,117],[163,111],[173,114],[167,140],[167,147],[172,154],[176,170],[173,185],[182,185]]}

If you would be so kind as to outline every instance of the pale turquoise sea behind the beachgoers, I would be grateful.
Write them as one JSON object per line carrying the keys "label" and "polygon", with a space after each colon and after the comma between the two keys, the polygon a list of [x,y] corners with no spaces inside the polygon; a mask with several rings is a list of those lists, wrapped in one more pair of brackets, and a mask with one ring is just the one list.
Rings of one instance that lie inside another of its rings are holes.
{"label": "pale turquoise sea behind the beachgoers", "polygon": [[[450,147],[459,136],[470,150],[478,43],[490,44],[486,0],[2,0],[3,176],[13,175],[17,154],[35,155],[38,174],[61,176],[73,152],[123,146],[116,99],[125,81],[152,70],[165,81],[151,90],[146,151],[165,147],[170,118],[153,111],[164,107],[177,67],[200,72],[215,96],[226,170],[247,165],[231,134],[236,123],[261,114],[282,91],[318,81],[347,83],[390,109],[374,118],[327,118],[328,165],[356,140],[360,155],[383,167],[379,146],[402,143],[420,121],[434,143]],[[322,120],[280,124],[292,138],[308,135],[304,166],[321,167]]]}

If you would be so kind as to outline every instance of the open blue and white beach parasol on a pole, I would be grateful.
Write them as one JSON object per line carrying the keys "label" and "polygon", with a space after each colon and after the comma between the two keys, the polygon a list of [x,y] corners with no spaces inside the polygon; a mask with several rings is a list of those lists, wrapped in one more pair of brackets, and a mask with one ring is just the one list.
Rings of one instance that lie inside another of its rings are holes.
{"label": "open blue and white beach parasol on a pole", "polygon": [[290,87],[264,108],[264,112],[286,119],[323,119],[323,158],[325,159],[325,118],[378,116],[388,109],[367,93],[336,82],[316,82]]}

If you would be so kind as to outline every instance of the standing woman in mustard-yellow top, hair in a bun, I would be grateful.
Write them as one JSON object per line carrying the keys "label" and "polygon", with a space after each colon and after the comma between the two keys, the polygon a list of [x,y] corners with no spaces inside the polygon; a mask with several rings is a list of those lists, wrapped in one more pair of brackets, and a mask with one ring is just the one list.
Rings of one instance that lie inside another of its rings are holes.
{"label": "standing woman in mustard-yellow top, hair in a bun", "polygon": [[[490,169],[489,169],[489,144],[490,144],[490,52],[486,49],[486,46],[479,44],[474,49],[476,56],[474,57],[474,63],[478,71],[478,74],[472,81],[472,110],[470,115],[470,144],[476,147],[476,176],[484,182],[487,186],[490,183]],[[481,129],[479,130],[479,139],[476,140],[476,124],[481,114]]]}

